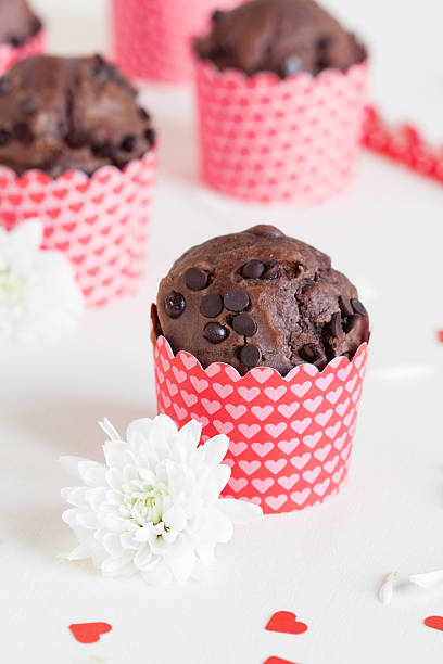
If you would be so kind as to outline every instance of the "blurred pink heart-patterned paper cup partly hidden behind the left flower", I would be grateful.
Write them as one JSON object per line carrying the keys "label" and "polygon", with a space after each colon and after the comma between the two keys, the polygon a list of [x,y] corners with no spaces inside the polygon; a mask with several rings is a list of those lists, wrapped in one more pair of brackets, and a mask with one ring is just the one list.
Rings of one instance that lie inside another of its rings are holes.
{"label": "blurred pink heart-patterned paper cup partly hidden behind the left flower", "polygon": [[40,170],[17,177],[0,166],[0,226],[11,230],[38,217],[43,248],[60,250],[74,266],[88,307],[135,295],[144,273],[156,151],[119,170],[92,176],[73,170],[52,179]]}

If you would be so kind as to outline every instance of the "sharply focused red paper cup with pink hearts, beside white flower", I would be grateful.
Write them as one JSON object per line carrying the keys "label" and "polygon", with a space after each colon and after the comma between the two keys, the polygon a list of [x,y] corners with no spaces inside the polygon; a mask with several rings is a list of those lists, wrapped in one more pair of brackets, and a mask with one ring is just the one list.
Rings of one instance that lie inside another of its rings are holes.
{"label": "sharply focused red paper cup with pink hearts, beside white flower", "polygon": [[337,357],[321,372],[306,363],[286,376],[266,367],[240,376],[223,362],[204,370],[160,336],[157,410],[178,426],[200,421],[203,442],[229,436],[225,497],[269,514],[301,510],[336,494],[347,475],[366,360],[364,343],[352,361]]}

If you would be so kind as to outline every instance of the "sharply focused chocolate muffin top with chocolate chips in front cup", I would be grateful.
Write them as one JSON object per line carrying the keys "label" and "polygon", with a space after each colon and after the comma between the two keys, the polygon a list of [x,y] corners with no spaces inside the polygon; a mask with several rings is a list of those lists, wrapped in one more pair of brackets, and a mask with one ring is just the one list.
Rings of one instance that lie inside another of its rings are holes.
{"label": "sharply focused chocolate muffin top with chocolate chips in front cup", "polygon": [[221,361],[241,374],[274,367],[350,359],[369,339],[355,286],[328,256],[273,226],[255,226],[194,246],[159,289],[154,331],[173,350],[206,368]]}

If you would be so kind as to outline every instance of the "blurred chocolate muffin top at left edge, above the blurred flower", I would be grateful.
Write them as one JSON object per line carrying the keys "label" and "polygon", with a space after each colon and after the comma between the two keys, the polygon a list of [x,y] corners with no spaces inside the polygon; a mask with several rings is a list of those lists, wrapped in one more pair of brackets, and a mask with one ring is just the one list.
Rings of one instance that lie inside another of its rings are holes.
{"label": "blurred chocolate muffin top at left edge, above the blurred flower", "polygon": [[0,164],[17,175],[123,168],[154,138],[136,91],[101,55],[29,58],[0,78]]}

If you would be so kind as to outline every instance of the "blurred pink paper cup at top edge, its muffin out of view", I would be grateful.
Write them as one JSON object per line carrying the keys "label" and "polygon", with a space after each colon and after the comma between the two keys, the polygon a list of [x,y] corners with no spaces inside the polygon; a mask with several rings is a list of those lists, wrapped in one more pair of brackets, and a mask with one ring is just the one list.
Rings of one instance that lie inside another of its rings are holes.
{"label": "blurred pink paper cup at top edge, its muffin out of view", "polygon": [[114,55],[136,78],[168,84],[193,77],[191,39],[216,9],[240,0],[112,0]]}

